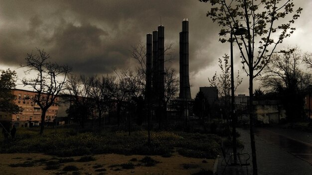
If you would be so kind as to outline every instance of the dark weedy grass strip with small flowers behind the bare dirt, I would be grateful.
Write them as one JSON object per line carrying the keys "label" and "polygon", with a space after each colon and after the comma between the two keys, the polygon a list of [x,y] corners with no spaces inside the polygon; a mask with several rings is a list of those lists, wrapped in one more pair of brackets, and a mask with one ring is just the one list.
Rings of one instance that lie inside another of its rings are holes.
{"label": "dark weedy grass strip with small flowers behind the bare dirt", "polygon": [[[192,156],[191,151],[206,153],[203,158],[215,158],[219,155],[218,143],[221,139],[211,134],[155,131],[151,134],[151,144],[147,144],[148,132],[134,130],[128,132],[109,129],[92,132],[90,129],[79,129],[74,125],[46,128],[43,135],[38,135],[38,128],[20,128],[14,143],[0,143],[0,153],[39,152],[58,157],[84,156],[94,154],[123,155],[158,155],[170,157],[173,148],[190,150],[188,157],[202,158],[200,154]],[[183,151],[182,151],[183,152]],[[90,160],[89,160],[90,161]]]}

